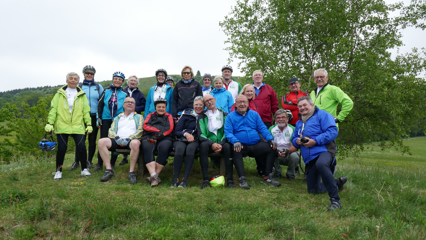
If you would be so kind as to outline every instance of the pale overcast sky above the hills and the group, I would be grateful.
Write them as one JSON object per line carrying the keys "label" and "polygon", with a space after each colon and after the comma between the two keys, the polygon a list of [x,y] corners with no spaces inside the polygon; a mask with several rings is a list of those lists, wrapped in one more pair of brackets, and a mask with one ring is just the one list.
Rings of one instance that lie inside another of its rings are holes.
{"label": "pale overcast sky above the hills and the group", "polygon": [[[393,2],[388,0],[387,2]],[[190,65],[219,75],[227,64],[227,36],[219,21],[233,0],[53,1],[1,0],[0,91],[65,84],[68,72],[96,68],[95,80],[112,73],[153,76],[164,68],[180,74]],[[420,29],[403,31],[407,52],[423,47]],[[392,51],[396,52],[396,51]],[[230,62],[233,75],[242,75]]]}

